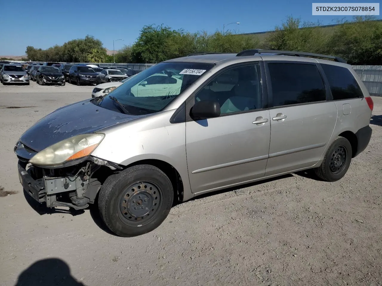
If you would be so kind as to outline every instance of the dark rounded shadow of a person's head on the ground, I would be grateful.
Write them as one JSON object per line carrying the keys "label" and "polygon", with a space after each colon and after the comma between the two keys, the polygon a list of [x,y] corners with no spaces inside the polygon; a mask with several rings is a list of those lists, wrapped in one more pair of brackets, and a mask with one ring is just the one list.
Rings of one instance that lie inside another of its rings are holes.
{"label": "dark rounded shadow of a person's head on the ground", "polygon": [[69,265],[58,258],[42,259],[26,268],[15,286],[84,286],[70,274]]}

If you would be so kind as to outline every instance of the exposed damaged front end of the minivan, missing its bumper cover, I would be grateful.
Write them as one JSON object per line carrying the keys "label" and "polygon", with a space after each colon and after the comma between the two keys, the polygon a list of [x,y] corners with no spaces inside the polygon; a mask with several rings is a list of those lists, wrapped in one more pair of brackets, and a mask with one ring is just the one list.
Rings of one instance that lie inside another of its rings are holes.
{"label": "exposed damaged front end of the minivan, missing its bumper cover", "polygon": [[24,191],[47,207],[85,209],[93,204],[104,180],[122,169],[118,164],[93,156],[82,157],[64,167],[43,167],[29,163],[37,152],[16,144],[18,174]]}

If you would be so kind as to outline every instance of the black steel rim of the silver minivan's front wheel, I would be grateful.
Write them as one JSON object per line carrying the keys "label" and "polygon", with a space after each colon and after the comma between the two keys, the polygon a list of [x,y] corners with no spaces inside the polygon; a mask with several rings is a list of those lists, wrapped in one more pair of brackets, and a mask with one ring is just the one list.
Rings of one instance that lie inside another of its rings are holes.
{"label": "black steel rim of the silver minivan's front wheel", "polygon": [[118,210],[125,223],[143,225],[155,218],[162,204],[163,194],[159,186],[151,181],[141,181],[123,190]]}

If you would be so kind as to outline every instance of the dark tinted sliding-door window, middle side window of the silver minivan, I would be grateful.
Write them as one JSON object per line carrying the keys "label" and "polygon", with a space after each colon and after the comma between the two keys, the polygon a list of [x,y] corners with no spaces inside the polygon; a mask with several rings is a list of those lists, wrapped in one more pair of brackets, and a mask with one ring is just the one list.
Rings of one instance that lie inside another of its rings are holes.
{"label": "dark tinted sliding-door window, middle side window of the silver minivan", "polygon": [[324,82],[316,65],[269,63],[273,106],[325,100]]}

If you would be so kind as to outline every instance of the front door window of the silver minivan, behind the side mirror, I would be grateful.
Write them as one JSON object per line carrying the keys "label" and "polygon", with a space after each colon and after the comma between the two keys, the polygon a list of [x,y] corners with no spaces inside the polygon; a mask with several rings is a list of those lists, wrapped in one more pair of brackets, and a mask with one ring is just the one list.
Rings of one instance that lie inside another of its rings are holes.
{"label": "front door window of the silver minivan, behind the side mirror", "polygon": [[221,114],[261,108],[259,66],[234,67],[219,74],[196,94],[195,101],[201,100],[219,102]]}

